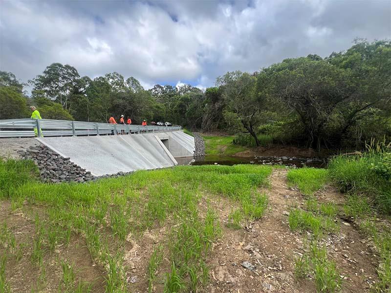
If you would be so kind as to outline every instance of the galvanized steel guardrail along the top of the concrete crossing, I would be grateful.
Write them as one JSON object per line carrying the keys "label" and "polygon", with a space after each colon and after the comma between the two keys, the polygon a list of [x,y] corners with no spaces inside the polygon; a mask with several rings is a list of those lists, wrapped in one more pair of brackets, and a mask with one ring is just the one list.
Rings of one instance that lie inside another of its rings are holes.
{"label": "galvanized steel guardrail along the top of the concrete crossing", "polygon": [[0,138],[143,134],[180,130],[181,126],[141,126],[50,119],[0,120]]}

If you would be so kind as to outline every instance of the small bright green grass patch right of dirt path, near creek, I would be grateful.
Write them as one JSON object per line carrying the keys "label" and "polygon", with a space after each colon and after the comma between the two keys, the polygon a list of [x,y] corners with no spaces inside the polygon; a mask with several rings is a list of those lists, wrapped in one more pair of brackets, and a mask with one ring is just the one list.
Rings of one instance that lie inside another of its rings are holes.
{"label": "small bright green grass patch right of dirt path, near creek", "polygon": [[288,185],[297,186],[304,195],[312,195],[327,182],[328,171],[321,168],[290,169]]}

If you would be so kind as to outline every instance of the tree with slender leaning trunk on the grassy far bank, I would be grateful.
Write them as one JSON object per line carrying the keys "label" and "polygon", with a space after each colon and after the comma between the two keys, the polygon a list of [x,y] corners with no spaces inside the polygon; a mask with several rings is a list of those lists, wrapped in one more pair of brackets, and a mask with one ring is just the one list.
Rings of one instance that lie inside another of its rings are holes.
{"label": "tree with slender leaning trunk on the grassy far bank", "polygon": [[226,108],[224,118],[229,126],[250,133],[257,146],[260,142],[256,129],[261,124],[261,101],[256,93],[256,78],[240,71],[218,77],[216,84],[222,90]]}

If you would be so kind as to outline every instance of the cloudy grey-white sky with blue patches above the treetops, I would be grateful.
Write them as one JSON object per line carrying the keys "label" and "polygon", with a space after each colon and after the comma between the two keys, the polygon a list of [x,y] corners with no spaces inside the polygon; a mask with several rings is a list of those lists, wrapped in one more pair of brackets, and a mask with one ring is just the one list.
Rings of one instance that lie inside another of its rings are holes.
{"label": "cloudy grey-white sky with blue patches above the treetops", "polygon": [[391,0],[0,0],[0,70],[51,63],[95,78],[213,86],[227,71],[391,39]]}

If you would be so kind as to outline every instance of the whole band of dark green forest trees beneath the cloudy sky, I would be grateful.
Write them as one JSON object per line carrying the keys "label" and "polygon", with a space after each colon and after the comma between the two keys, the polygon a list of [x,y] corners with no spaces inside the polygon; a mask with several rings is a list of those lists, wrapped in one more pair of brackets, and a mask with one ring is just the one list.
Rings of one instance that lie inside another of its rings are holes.
{"label": "whole band of dark green forest trees beneath the cloudy sky", "polygon": [[[26,86],[31,93],[26,91]],[[52,63],[21,83],[0,72],[0,119],[29,117],[134,124],[169,121],[192,130],[236,134],[246,146],[283,144],[360,149],[391,139],[391,41],[357,39],[345,51],[284,59],[257,72],[227,72],[205,91],[190,84],[144,89],[117,72],[91,79]]]}

